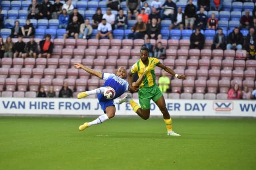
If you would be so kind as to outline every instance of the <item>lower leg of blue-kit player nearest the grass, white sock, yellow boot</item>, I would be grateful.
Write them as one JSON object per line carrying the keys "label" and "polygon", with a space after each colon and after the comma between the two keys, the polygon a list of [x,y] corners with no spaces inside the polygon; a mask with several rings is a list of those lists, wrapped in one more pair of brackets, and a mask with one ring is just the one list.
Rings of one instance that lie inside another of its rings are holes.
{"label": "lower leg of blue-kit player nearest the grass, white sock, yellow boot", "polygon": [[83,125],[79,126],[79,130],[83,131],[84,129],[92,126],[92,125],[97,125],[100,123],[103,123],[104,121],[111,119],[112,117],[115,116],[116,113],[116,107],[115,106],[108,106],[105,109],[106,114],[100,115],[97,119],[90,121],[90,122],[85,122]]}

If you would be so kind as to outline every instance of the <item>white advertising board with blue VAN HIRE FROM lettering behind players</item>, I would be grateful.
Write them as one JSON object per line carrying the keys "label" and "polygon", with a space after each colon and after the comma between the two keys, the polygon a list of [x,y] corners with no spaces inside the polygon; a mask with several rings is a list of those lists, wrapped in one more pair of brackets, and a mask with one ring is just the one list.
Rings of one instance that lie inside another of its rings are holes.
{"label": "white advertising board with blue VAN HIRE FROM lettering behind players", "polygon": [[[138,102],[138,100],[135,100]],[[136,115],[130,104],[116,105],[116,115]],[[166,100],[166,107],[174,116],[256,117],[255,100]],[[101,115],[97,99],[73,98],[0,98],[0,114],[25,115]],[[153,116],[160,116],[156,104],[151,103]]]}

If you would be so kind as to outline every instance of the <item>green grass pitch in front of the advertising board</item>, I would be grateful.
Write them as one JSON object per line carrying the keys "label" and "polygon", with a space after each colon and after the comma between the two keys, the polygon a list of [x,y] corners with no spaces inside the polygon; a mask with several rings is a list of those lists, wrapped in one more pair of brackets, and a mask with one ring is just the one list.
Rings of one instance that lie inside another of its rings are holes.
{"label": "green grass pitch in front of the advertising board", "polygon": [[256,119],[0,117],[0,170],[255,170]]}

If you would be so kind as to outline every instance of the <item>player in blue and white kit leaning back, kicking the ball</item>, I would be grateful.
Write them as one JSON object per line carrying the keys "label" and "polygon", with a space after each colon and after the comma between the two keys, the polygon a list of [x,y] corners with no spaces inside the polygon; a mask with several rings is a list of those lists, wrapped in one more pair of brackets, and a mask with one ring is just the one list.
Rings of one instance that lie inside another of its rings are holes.
{"label": "player in blue and white kit leaning back, kicking the ball", "polygon": [[[77,98],[81,99],[81,98],[84,98],[84,97],[92,95],[92,94],[97,94],[99,104],[100,104],[102,110],[104,111],[104,113],[106,113],[106,114],[100,115],[97,119],[95,119],[91,122],[85,122],[83,125],[80,125],[79,126],[80,131],[83,131],[84,129],[86,129],[87,127],[90,127],[92,125],[97,125],[97,124],[103,123],[104,121],[114,117],[114,115],[116,113],[114,99],[118,98],[119,96],[124,94],[124,92],[129,91],[130,88],[136,89],[138,86],[140,86],[140,84],[144,78],[144,74],[142,74],[138,78],[138,80],[132,84],[133,87],[129,87],[129,83],[126,80],[124,80],[124,78],[126,78],[126,69],[123,67],[118,68],[116,74],[95,71],[95,70],[92,70],[91,68],[88,68],[80,63],[75,63],[74,67],[76,69],[82,68],[86,72],[88,72],[94,76],[97,76],[98,78],[100,78],[102,80],[105,80],[105,83],[102,87],[96,88],[94,90],[86,91],[86,92],[81,92],[77,95]],[[144,69],[144,73],[146,73],[146,71],[147,70]],[[106,87],[108,87],[108,86],[112,87],[116,92],[115,97],[111,100],[108,100],[103,96],[103,92],[106,89]]]}

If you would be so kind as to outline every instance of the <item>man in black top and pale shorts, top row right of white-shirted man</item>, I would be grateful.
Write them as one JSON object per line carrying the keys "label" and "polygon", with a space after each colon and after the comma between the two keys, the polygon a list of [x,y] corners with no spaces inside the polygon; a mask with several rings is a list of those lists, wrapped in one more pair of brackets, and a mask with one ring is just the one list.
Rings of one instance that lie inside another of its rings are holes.
{"label": "man in black top and pale shorts, top row right of white-shirted man", "polygon": [[188,24],[190,29],[194,29],[194,22],[196,20],[196,6],[192,4],[193,0],[189,0],[185,7],[185,29],[188,29]]}

